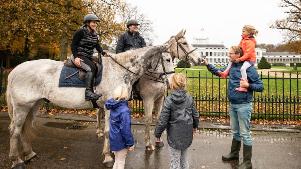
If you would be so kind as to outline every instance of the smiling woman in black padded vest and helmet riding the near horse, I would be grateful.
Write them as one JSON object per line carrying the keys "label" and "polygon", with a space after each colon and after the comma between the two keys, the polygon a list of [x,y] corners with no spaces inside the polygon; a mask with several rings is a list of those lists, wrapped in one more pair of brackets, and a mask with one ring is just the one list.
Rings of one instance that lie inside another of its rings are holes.
{"label": "smiling woman in black padded vest and helmet riding the near horse", "polygon": [[87,71],[85,77],[86,92],[85,101],[98,99],[102,94],[96,94],[93,91],[93,79],[96,74],[96,66],[92,62],[93,49],[103,56],[110,56],[104,52],[98,43],[96,26],[99,19],[94,14],[87,14],[84,17],[84,25],[74,33],[71,42],[72,62],[79,68]]}

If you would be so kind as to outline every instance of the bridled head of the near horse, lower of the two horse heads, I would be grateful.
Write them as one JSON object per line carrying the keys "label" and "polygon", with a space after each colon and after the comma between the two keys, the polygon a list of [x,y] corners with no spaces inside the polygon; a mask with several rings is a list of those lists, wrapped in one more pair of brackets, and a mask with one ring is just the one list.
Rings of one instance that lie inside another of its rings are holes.
{"label": "bridled head of the near horse, lower of the two horse heads", "polygon": [[170,82],[172,75],[175,73],[173,60],[169,52],[171,45],[165,44],[161,46],[160,53],[152,57],[152,69],[155,73],[160,74],[161,80]]}

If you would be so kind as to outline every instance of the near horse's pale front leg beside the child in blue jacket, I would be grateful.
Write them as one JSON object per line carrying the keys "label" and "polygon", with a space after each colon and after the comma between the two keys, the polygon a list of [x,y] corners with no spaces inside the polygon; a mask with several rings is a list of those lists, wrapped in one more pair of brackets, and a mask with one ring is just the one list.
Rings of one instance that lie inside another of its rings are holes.
{"label": "near horse's pale front leg beside the child in blue jacket", "polygon": [[105,112],[105,127],[104,127],[104,145],[103,145],[103,150],[102,154],[104,155],[104,161],[103,163],[105,164],[106,167],[111,168],[113,167],[113,158],[111,157],[110,154],[110,111],[107,109],[104,109]]}

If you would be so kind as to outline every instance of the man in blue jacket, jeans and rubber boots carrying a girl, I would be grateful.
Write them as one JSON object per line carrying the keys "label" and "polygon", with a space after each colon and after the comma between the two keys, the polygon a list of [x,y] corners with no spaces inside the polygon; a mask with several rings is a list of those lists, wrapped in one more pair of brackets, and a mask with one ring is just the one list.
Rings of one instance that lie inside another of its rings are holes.
{"label": "man in blue jacket, jeans and rubber boots carrying a girl", "polygon": [[[262,92],[263,82],[259,77],[254,66],[247,69],[249,83],[242,80],[240,68],[243,62],[234,63],[234,61],[243,56],[242,48],[232,46],[229,51],[229,61],[233,62],[229,72],[228,99],[230,101],[230,127],[233,133],[231,152],[228,155],[222,156],[223,160],[238,160],[241,140],[243,140],[243,163],[237,168],[252,168],[252,137],[250,135],[250,120],[252,113],[252,97],[253,91]],[[214,75],[220,76],[217,71],[224,71],[225,68],[217,69],[212,64],[208,64],[207,60],[203,59],[207,69]],[[248,92],[236,91],[235,88],[245,87]]]}

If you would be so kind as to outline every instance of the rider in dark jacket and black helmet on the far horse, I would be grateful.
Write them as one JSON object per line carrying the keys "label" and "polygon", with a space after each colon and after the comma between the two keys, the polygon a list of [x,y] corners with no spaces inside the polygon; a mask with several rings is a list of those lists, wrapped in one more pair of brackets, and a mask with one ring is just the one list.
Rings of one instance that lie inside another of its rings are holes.
{"label": "rider in dark jacket and black helmet on the far horse", "polygon": [[[138,49],[142,47],[146,47],[146,43],[144,38],[138,32],[138,22],[136,20],[129,20],[127,23],[127,32],[121,34],[119,36],[117,46],[116,46],[116,54],[125,52],[130,49]],[[139,92],[136,90],[136,84],[139,82],[137,80],[133,84],[133,97],[139,98]],[[139,98],[140,99],[140,98]]]}

